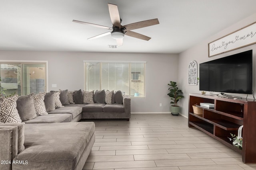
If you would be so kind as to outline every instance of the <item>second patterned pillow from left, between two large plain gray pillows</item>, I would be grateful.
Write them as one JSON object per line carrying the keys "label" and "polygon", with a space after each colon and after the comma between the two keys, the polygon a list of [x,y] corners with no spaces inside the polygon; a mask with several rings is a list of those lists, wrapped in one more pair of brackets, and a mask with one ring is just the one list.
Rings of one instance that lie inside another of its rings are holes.
{"label": "second patterned pillow from left, between two large plain gray pillows", "polygon": [[34,95],[34,106],[36,109],[36,114],[37,115],[47,115],[48,113],[46,112],[45,104],[44,104],[44,95],[45,92],[40,92],[36,95]]}

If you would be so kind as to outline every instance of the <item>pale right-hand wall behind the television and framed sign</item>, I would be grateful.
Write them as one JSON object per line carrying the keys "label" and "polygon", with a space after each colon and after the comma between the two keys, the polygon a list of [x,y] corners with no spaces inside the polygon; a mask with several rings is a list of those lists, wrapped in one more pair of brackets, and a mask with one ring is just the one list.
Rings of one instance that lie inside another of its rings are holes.
{"label": "pale right-hand wall behind the television and framed sign", "polygon": [[[198,63],[198,70],[199,70],[199,64],[204,63],[206,61],[219,59],[222,57],[226,57],[228,55],[233,55],[236,53],[240,53],[243,51],[247,51],[252,49],[253,50],[253,90],[256,91],[256,78],[255,78],[255,70],[256,70],[256,45],[250,45],[241,49],[237,49],[234,51],[230,51],[228,53],[223,53],[220,55],[216,55],[214,57],[208,57],[208,43],[223,37],[229,33],[232,33],[242,27],[245,27],[253,22],[255,22],[256,14],[242,20],[238,21],[236,24],[231,25],[230,27],[220,31],[219,33],[216,33],[215,35],[209,37],[208,39],[205,39],[204,41],[200,42],[199,44],[195,45],[194,47],[182,52],[179,54],[179,67],[178,67],[178,82],[179,87],[182,89],[185,95],[185,99],[180,100],[179,106],[182,107],[181,114],[188,116],[188,96],[189,93],[200,93],[199,91],[199,84],[198,86],[188,86],[188,64],[190,61],[195,60]],[[198,74],[199,77],[199,74]],[[200,83],[200,82],[199,82]],[[209,92],[208,92],[209,93]],[[241,96],[243,98],[246,98],[245,94],[234,94],[236,96]],[[248,95],[248,98],[253,98],[252,95]]]}

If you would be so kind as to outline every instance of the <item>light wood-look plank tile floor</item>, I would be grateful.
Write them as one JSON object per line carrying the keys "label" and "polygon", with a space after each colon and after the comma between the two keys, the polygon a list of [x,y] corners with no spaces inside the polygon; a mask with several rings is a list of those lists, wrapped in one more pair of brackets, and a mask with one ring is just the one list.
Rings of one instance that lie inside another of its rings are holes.
{"label": "light wood-look plank tile floor", "polygon": [[256,170],[241,155],[188,119],[170,114],[132,114],[126,120],[90,120],[96,141],[84,170]]}

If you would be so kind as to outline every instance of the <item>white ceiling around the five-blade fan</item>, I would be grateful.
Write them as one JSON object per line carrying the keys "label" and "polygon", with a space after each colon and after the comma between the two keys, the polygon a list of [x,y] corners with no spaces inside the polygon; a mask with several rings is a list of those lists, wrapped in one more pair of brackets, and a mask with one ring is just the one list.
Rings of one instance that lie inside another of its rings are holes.
{"label": "white ceiling around the five-blade fan", "polygon": [[[160,24],[132,30],[123,46],[108,32],[72,20],[112,27],[108,5],[118,5],[122,25],[158,18]],[[0,50],[180,53],[254,13],[256,0],[0,0]]]}

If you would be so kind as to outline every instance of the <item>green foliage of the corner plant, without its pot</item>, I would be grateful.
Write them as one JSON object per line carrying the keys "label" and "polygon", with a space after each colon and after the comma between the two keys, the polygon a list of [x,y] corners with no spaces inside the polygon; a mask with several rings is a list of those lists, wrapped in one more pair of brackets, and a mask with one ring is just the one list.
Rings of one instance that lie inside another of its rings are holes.
{"label": "green foliage of the corner plant, without its pot", "polygon": [[168,84],[170,86],[170,88],[168,88],[169,93],[167,94],[168,96],[170,96],[171,98],[171,102],[170,104],[174,104],[174,106],[177,106],[177,102],[184,98],[184,96],[182,96],[182,90],[178,89],[178,85],[176,82],[170,81],[170,84]]}

